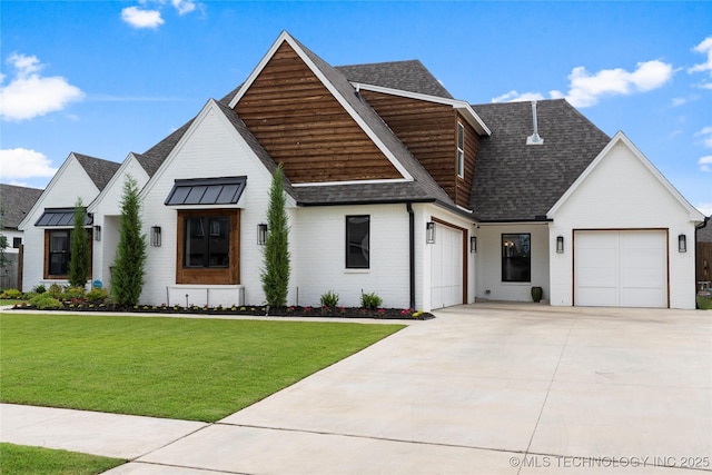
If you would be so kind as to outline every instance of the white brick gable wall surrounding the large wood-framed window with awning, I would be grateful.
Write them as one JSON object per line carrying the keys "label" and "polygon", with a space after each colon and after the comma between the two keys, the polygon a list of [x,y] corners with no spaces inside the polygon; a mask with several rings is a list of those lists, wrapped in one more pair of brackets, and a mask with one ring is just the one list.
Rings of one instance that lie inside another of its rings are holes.
{"label": "white brick gable wall surrounding the large wood-framed window with awning", "polygon": [[[164,205],[175,180],[229,176],[248,177],[245,191],[237,204],[237,207],[241,208],[240,283],[248,304],[259,305],[264,301],[259,279],[263,255],[261,247],[257,245],[257,224],[266,221],[271,176],[212,103],[204,108],[167,162],[141,192],[146,234],[150,237],[152,226],[160,226],[162,231],[161,246],[148,247],[146,264],[148,271],[141,301],[152,305],[166,303],[167,287],[176,285],[178,207]],[[186,209],[195,209],[195,207],[186,207]],[[238,289],[236,288],[235,291],[237,293]],[[205,304],[199,293],[196,294],[195,299],[196,301],[191,304]],[[210,305],[231,305],[236,301],[231,297],[225,297],[225,301],[210,301]]]}

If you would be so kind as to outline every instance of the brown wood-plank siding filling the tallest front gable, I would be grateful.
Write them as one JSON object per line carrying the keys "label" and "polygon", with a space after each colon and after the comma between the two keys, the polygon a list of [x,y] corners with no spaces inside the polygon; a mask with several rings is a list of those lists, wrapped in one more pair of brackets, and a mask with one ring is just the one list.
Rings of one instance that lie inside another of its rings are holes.
{"label": "brown wood-plank siding filling the tallest front gable", "polygon": [[293,184],[403,178],[287,42],[235,111]]}

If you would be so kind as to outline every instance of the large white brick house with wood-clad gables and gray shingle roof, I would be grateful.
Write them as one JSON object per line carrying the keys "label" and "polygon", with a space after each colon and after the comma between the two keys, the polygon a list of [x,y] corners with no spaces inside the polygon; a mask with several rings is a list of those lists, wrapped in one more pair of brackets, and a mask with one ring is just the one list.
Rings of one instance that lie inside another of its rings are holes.
{"label": "large white brick house with wood-clad gables and gray shingle roof", "polygon": [[[141,300],[260,305],[277,164],[290,305],[375,291],[431,310],[527,301],[540,286],[552,305],[694,308],[694,253],[679,239],[691,246],[703,216],[623,133],[565,100],[469,105],[418,61],[334,68],[286,32],[243,85],[88,194],[93,279],[110,285],[131,175],[150,243]],[[52,185],[75,179],[60,169],[28,231]],[[28,268],[47,264],[36,246]]]}

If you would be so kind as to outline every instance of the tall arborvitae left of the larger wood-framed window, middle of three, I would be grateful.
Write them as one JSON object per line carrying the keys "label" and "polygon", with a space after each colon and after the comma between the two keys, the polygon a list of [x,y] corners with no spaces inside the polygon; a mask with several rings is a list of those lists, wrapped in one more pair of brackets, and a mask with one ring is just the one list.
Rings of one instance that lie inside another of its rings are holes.
{"label": "tall arborvitae left of the larger wood-framed window, middle of three", "polygon": [[119,246],[111,273],[111,297],[119,305],[137,305],[145,283],[146,235],[141,234],[138,184],[127,177],[121,196]]}

